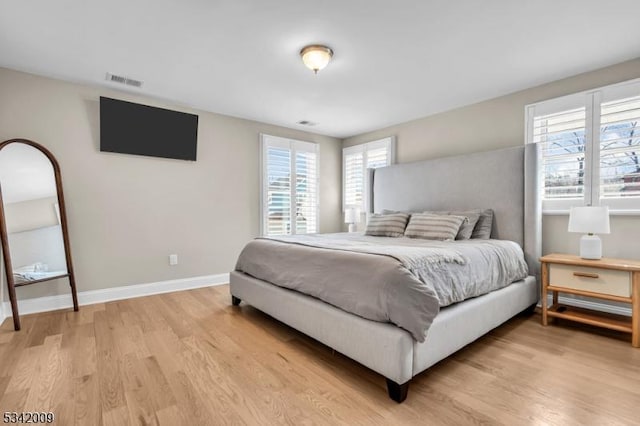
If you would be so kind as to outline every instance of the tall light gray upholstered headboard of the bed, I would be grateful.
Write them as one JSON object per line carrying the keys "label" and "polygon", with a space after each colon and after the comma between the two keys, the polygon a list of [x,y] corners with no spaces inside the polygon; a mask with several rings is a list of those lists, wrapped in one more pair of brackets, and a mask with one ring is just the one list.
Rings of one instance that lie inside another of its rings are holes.
{"label": "tall light gray upholstered headboard of the bed", "polygon": [[532,275],[541,253],[536,145],[370,170],[369,210],[491,208],[492,238],[522,246]]}

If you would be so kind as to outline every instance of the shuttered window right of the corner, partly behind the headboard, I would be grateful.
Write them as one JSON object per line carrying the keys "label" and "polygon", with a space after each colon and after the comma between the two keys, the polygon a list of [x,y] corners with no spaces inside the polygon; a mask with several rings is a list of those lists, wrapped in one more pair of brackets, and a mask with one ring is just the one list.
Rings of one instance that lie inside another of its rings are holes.
{"label": "shuttered window right of the corner, partly behind the headboard", "polygon": [[354,145],[342,150],[342,208],[365,208],[367,169],[375,169],[395,161],[395,138]]}

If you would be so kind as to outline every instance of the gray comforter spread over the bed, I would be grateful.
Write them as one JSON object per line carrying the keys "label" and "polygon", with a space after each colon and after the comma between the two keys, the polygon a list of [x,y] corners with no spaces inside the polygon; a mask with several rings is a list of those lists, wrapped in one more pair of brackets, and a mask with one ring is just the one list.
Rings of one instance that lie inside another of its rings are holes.
{"label": "gray comforter spread over the bed", "polygon": [[244,248],[236,270],[394,323],[419,342],[441,306],[505,287],[528,272],[522,249],[511,241],[355,233],[259,238]]}

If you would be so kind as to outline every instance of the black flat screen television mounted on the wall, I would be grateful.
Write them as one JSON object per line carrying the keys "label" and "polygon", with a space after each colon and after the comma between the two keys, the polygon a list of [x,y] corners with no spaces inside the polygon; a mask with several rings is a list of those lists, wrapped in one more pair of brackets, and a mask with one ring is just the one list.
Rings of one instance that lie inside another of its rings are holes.
{"label": "black flat screen television mounted on the wall", "polygon": [[100,151],[196,161],[198,116],[100,97]]}

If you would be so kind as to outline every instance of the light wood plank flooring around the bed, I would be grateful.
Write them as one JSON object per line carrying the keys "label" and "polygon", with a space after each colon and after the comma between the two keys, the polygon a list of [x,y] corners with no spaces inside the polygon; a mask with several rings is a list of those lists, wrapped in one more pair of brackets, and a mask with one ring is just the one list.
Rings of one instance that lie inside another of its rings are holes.
{"label": "light wood plank flooring around the bed", "polygon": [[640,422],[628,335],[516,317],[416,377],[384,378],[246,304],[227,286],[82,306],[0,327],[0,414],[59,425]]}

